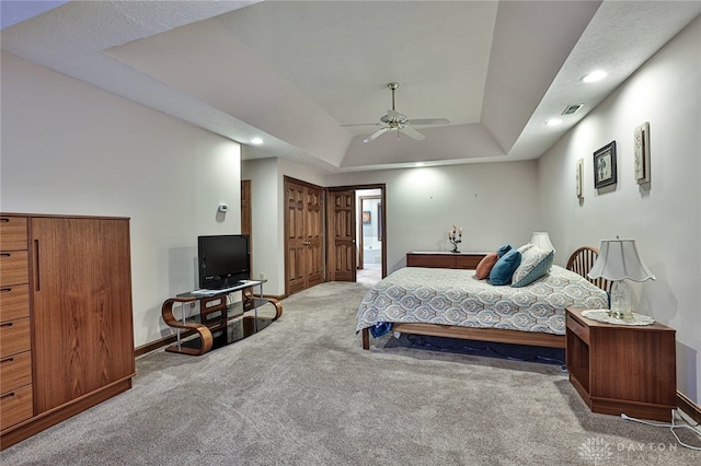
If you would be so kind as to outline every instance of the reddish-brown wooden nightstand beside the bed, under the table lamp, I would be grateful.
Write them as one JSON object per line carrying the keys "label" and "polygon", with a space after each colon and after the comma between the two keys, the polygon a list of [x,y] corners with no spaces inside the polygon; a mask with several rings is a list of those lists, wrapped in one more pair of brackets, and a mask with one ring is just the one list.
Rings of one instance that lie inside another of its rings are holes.
{"label": "reddish-brown wooden nightstand beside the bed, under the table lamp", "polygon": [[671,421],[677,408],[675,330],[605,324],[567,307],[570,382],[594,412]]}

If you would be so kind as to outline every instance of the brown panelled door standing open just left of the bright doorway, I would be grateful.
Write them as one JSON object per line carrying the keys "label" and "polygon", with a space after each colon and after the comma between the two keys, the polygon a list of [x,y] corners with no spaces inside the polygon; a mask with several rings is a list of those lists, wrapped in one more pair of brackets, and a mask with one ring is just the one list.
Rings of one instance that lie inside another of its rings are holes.
{"label": "brown panelled door standing open just left of the bright doorway", "polygon": [[356,281],[355,191],[330,190],[327,206],[329,280]]}

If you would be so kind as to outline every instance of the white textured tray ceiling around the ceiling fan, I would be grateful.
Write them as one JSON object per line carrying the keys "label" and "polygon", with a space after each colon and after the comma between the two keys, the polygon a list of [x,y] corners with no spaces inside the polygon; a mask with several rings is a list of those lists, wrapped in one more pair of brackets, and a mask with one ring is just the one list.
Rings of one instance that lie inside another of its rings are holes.
{"label": "white textured tray ceiling around the ceiling fan", "polygon": [[[22,3],[3,1],[3,18]],[[538,158],[700,13],[698,1],[71,1],[1,39],[244,144],[261,136],[244,158],[334,172]],[[582,83],[595,68],[608,79]],[[450,125],[364,143],[377,127],[343,125],[379,121],[390,81],[398,110]],[[544,125],[570,104],[584,106]]]}

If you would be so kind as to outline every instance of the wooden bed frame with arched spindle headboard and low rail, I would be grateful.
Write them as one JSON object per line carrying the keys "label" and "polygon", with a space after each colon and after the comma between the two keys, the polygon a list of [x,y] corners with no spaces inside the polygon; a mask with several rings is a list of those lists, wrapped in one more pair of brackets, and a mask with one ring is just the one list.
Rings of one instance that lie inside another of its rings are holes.
{"label": "wooden bed frame with arched spindle headboard and low rail", "polygon": [[[604,279],[591,280],[587,272],[594,266],[599,249],[584,246],[576,249],[570,260],[567,269],[581,275],[591,283],[605,291],[610,291],[611,283]],[[370,330],[363,330],[363,349],[370,349]],[[565,348],[565,336],[554,334],[541,334],[536,331],[507,330],[502,328],[473,328],[456,325],[422,324],[422,323],[393,323],[392,331],[401,334],[429,335],[434,337],[461,338],[478,341],[494,341],[499,343],[530,345],[535,347]]]}

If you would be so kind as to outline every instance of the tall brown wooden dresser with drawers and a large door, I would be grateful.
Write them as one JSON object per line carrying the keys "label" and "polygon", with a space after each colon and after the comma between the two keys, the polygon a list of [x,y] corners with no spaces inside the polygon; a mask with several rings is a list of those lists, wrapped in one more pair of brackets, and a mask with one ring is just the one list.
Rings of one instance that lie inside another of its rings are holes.
{"label": "tall brown wooden dresser with drawers and a large door", "polygon": [[0,214],[0,448],[131,387],[129,219]]}

